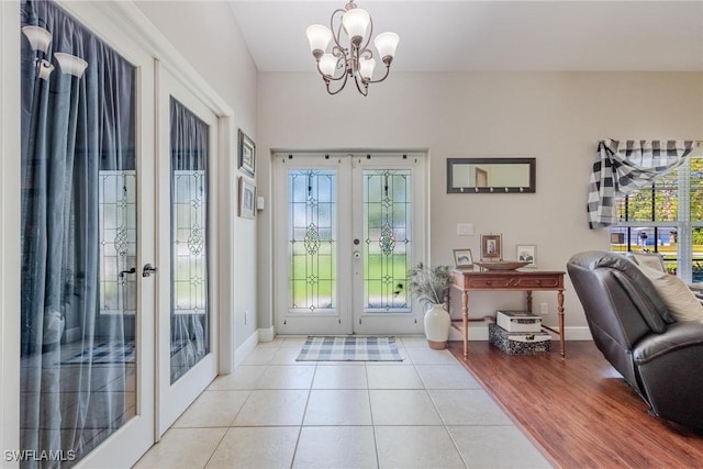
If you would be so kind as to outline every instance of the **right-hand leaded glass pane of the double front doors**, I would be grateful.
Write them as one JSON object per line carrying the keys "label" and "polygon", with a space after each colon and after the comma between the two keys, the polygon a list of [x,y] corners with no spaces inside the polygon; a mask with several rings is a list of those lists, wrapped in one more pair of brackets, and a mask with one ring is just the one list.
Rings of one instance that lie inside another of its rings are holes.
{"label": "right-hand leaded glass pane of the double front doors", "polygon": [[365,312],[411,312],[406,288],[411,220],[411,170],[365,169]]}

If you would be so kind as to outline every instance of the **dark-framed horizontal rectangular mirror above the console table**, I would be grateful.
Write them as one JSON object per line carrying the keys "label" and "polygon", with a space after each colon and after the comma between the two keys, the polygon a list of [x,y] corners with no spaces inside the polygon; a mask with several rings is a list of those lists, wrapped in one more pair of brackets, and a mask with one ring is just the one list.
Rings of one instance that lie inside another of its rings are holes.
{"label": "dark-framed horizontal rectangular mirror above the console table", "polygon": [[534,193],[536,158],[447,158],[447,193]]}

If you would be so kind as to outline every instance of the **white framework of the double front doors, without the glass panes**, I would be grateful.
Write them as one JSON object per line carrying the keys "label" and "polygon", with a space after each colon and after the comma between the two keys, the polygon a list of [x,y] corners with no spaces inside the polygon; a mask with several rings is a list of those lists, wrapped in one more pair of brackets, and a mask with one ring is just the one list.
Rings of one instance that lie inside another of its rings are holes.
{"label": "white framework of the double front doors, without the glass panes", "polygon": [[[371,154],[376,158],[370,161],[366,155]],[[289,157],[292,155],[292,158]],[[405,155],[405,159],[400,159]],[[389,157],[398,159],[389,163]],[[355,160],[359,163],[354,163]],[[406,163],[402,163],[402,161]],[[283,161],[283,163],[281,163]],[[354,298],[362,291],[362,281],[355,278],[355,264],[353,260],[355,246],[353,239],[361,236],[361,194],[356,193],[357,186],[361,182],[362,169],[366,167],[413,168],[413,263],[427,257],[428,226],[427,220],[427,155],[424,152],[280,152],[272,155],[274,174],[274,311],[277,334],[419,334],[423,331],[422,312],[416,301],[413,300],[412,313],[388,313],[384,317],[379,314],[364,313],[358,305],[354,305]],[[345,312],[328,316],[314,314],[300,314],[291,319],[288,315],[288,169],[337,168],[337,204],[339,211],[338,221],[338,271],[337,299],[339,310]],[[355,206],[355,213],[344,209]],[[343,220],[345,219],[345,220]],[[346,226],[346,228],[345,228]],[[348,228],[354,227],[354,233]],[[357,273],[358,273],[358,269]],[[356,276],[358,278],[358,275]],[[354,291],[352,286],[354,286]],[[291,323],[293,321],[293,323]]]}

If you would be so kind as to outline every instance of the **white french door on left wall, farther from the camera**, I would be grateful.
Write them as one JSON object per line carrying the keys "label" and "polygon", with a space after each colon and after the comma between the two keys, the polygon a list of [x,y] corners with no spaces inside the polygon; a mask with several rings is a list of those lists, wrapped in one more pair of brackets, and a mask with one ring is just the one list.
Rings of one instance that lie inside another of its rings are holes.
{"label": "white french door on left wall, farther from the camera", "polygon": [[214,171],[217,118],[157,66],[158,434],[217,373]]}

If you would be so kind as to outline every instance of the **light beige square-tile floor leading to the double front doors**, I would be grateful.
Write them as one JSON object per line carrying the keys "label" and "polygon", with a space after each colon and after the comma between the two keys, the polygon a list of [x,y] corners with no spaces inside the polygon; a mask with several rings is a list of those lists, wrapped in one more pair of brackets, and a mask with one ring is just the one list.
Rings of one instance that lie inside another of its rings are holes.
{"label": "light beige square-tile floor leading to the double front doors", "polygon": [[398,337],[400,362],[302,361],[302,337],[259,344],[135,466],[548,468],[447,350]]}

